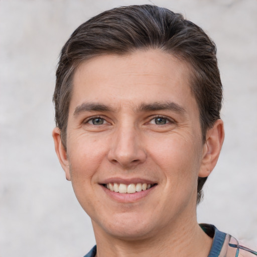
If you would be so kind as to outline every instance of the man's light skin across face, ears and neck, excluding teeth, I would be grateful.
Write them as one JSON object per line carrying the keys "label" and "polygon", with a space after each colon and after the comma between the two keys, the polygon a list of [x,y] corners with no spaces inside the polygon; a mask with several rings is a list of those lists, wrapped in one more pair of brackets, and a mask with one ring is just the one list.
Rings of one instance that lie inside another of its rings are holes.
{"label": "man's light skin across face, ears and neck, excluding teeth", "polygon": [[[74,75],[67,151],[56,153],[91,217],[97,256],[207,256],[197,224],[197,178],[216,165],[224,139],[217,120],[202,142],[189,68],[161,50],[104,55]],[[98,123],[97,123],[98,122]],[[147,193],[110,193],[102,184],[148,181]]]}

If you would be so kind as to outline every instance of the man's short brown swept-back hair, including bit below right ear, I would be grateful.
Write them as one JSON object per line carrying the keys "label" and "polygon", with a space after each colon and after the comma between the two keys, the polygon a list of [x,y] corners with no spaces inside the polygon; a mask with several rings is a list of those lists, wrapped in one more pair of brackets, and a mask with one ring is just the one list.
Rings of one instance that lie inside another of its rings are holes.
{"label": "man's short brown swept-back hair, including bit below right ear", "polygon": [[[194,23],[168,9],[151,5],[119,7],[80,25],[63,46],[53,96],[56,126],[66,147],[66,129],[74,72],[82,61],[138,49],[161,49],[189,64],[191,90],[196,98],[205,141],[207,129],[220,118],[222,84],[216,46]],[[198,178],[197,203],[207,178]]]}

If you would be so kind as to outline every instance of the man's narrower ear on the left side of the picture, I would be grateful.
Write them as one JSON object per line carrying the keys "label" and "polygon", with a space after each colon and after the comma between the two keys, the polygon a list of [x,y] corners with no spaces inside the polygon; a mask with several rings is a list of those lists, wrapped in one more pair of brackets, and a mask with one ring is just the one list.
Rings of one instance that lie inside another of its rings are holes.
{"label": "man's narrower ear on the left side of the picture", "polygon": [[53,130],[52,136],[54,139],[55,152],[58,156],[59,162],[60,162],[63,170],[65,171],[66,179],[71,180],[67,152],[62,144],[61,131],[60,131],[59,127],[55,127],[55,129]]}

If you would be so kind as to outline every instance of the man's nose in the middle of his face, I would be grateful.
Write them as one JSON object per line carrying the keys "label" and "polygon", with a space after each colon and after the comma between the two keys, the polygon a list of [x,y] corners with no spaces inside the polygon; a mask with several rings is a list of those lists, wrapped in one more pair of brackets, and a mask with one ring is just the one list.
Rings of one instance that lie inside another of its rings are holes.
{"label": "man's nose in the middle of his face", "polygon": [[122,168],[135,168],[147,158],[140,132],[134,125],[124,125],[113,133],[108,160]]}

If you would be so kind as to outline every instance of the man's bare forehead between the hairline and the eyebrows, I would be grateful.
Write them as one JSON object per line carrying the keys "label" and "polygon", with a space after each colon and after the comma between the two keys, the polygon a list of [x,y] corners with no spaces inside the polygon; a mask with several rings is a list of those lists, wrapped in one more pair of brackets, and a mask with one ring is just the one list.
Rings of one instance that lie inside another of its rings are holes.
{"label": "man's bare forehead between the hairline and the eyebrows", "polygon": [[90,101],[108,105],[190,101],[190,105],[195,99],[189,78],[188,65],[161,50],[94,57],[74,74],[70,108]]}

